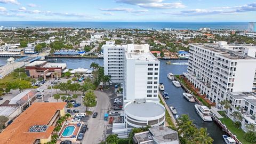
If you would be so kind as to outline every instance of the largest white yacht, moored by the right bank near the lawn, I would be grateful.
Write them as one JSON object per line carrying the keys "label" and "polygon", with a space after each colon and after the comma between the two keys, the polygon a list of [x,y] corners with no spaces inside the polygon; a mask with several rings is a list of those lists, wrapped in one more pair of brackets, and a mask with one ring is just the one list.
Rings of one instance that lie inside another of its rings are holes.
{"label": "largest white yacht, moored by the right bank near the lawn", "polygon": [[212,122],[212,117],[210,113],[210,109],[206,106],[195,105],[197,114],[203,119],[205,122]]}

